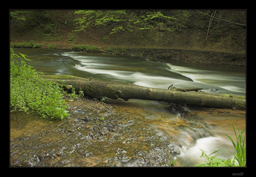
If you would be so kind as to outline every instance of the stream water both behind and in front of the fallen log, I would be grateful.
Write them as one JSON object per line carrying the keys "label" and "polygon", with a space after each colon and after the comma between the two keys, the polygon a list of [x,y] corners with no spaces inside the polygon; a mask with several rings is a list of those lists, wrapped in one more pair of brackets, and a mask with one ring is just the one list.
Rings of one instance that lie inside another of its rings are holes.
{"label": "stream water both behind and in front of the fallen log", "polygon": [[[246,95],[245,68],[164,64],[66,50],[15,48],[14,52],[27,55],[31,60],[27,64],[45,74],[93,77],[163,89],[173,84],[179,88],[201,87],[205,92],[218,89],[220,94]],[[234,138],[230,118],[240,129],[246,125],[243,110],[190,107],[183,118],[171,112],[170,106],[156,101],[105,99],[115,113],[108,110],[102,122],[95,119],[99,111],[76,107],[70,112],[70,120],[57,128],[61,121],[11,116],[11,166],[165,166],[166,150],[175,153],[176,166],[195,166],[205,160],[200,158],[200,149],[207,154],[219,149],[234,151],[225,136]],[[84,117],[90,121],[82,121]],[[81,128],[91,125],[97,125],[101,135],[90,131],[95,128]],[[112,127],[110,133],[103,132],[106,127]],[[219,158],[232,157],[225,150],[217,154]]]}

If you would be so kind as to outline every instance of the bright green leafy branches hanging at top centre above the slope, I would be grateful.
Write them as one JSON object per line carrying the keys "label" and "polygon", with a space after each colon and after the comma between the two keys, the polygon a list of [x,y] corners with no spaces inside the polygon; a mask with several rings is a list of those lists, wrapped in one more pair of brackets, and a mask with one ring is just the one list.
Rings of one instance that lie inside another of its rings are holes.
{"label": "bright green leafy branches hanging at top centre above the slope", "polygon": [[176,11],[174,15],[167,11],[79,10],[75,11],[75,14],[82,15],[81,18],[74,20],[80,25],[75,31],[85,31],[88,27],[114,24],[110,34],[120,31],[131,32],[134,29],[148,30],[160,25],[162,25],[162,30],[177,31],[185,25],[184,22],[189,16],[188,11]]}

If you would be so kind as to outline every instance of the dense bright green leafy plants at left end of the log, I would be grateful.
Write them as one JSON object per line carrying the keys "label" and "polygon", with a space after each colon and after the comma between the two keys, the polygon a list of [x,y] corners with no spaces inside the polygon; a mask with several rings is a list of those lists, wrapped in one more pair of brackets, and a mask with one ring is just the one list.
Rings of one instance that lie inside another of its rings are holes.
{"label": "dense bright green leafy plants at left end of the log", "polygon": [[[26,55],[10,54],[11,111],[37,113],[42,118],[65,119],[69,116],[61,84],[40,78],[32,66],[26,64]],[[42,74],[42,73],[40,73]]]}

